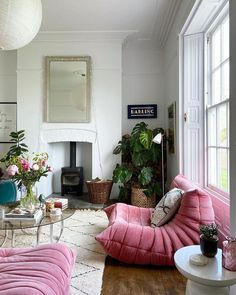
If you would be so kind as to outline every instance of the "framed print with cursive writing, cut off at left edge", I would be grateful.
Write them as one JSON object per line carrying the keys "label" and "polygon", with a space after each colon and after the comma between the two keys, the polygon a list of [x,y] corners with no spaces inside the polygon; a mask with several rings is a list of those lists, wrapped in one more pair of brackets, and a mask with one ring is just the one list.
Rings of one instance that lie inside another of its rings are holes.
{"label": "framed print with cursive writing, cut off at left edge", "polygon": [[0,142],[9,143],[12,131],[16,131],[16,102],[0,102]]}

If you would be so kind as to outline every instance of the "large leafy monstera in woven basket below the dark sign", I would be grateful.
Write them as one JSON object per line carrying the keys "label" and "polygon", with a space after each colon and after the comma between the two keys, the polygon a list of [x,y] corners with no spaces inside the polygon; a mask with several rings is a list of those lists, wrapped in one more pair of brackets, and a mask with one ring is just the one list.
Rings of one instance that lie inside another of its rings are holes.
{"label": "large leafy monstera in woven basket below the dark sign", "polygon": [[[138,123],[113,150],[113,154],[122,155],[122,163],[116,165],[112,178],[114,183],[119,183],[121,201],[131,200],[131,204],[142,207],[155,206],[156,194],[161,191],[161,146],[152,140],[158,133],[164,134],[164,130]],[[142,204],[143,197],[147,204]]]}

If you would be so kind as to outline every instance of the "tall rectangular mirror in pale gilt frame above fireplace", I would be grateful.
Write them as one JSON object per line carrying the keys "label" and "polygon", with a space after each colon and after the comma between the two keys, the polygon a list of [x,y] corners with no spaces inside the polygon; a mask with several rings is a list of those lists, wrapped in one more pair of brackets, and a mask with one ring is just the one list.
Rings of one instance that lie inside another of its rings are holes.
{"label": "tall rectangular mirror in pale gilt frame above fireplace", "polygon": [[46,56],[46,110],[49,123],[90,121],[89,56]]}

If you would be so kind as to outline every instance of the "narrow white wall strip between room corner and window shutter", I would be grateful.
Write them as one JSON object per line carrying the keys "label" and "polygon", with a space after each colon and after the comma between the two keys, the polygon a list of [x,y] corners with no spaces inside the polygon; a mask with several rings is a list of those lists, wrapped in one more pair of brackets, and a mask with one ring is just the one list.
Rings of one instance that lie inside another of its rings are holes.
{"label": "narrow white wall strip between room corner and window shutter", "polygon": [[[168,154],[167,171],[168,181],[170,182],[179,173],[179,33],[194,5],[195,0],[182,0],[175,22],[172,26],[164,52],[164,79],[165,79],[165,110],[168,105],[176,101],[176,152]],[[167,114],[166,126],[167,122]]]}

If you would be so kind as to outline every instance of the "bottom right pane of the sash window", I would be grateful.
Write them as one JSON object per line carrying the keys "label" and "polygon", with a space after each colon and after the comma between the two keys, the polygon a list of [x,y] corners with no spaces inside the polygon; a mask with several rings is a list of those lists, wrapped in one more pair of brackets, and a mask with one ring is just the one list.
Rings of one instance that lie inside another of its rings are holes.
{"label": "bottom right pane of the sash window", "polygon": [[218,150],[218,187],[225,192],[229,191],[228,150]]}

